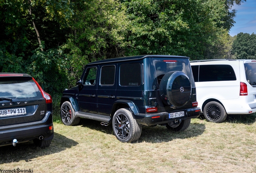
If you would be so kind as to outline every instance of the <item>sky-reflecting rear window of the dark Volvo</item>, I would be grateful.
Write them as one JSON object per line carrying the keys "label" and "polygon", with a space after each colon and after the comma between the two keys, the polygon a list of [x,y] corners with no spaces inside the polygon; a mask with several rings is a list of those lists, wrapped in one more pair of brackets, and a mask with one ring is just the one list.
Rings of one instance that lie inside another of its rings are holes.
{"label": "sky-reflecting rear window of the dark Volvo", "polygon": [[0,97],[10,99],[41,98],[42,95],[32,79],[0,80]]}

